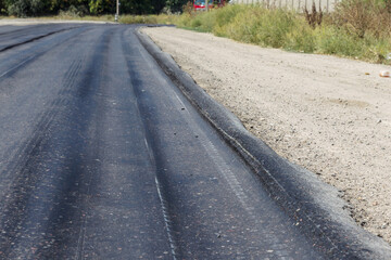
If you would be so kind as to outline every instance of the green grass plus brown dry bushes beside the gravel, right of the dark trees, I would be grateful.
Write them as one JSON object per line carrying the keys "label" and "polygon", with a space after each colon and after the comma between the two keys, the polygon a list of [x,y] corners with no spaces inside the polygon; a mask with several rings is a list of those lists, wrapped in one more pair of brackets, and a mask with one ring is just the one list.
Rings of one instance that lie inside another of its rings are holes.
{"label": "green grass plus brown dry bushes beside the gravel, right of the dark trees", "polygon": [[261,47],[333,54],[389,64],[391,1],[342,0],[331,14],[293,12],[262,5],[232,4],[210,12],[185,8],[178,27]]}

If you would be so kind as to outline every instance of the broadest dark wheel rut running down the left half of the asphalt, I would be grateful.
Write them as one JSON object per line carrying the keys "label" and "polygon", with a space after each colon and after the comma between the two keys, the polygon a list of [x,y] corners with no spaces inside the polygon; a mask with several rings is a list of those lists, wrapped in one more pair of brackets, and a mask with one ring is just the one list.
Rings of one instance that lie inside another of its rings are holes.
{"label": "broadest dark wheel rut running down the left half of the asphalt", "polygon": [[[62,166],[53,169],[54,179],[61,178],[60,182],[54,181],[55,183],[50,183],[49,187],[48,185],[38,187],[38,190],[49,190],[47,195],[49,202],[42,204],[46,207],[52,207],[48,224],[40,227],[45,231],[45,235],[38,238],[41,243],[49,243],[50,248],[38,246],[34,253],[34,257],[38,259],[51,259],[53,256],[59,259],[70,256],[75,259],[84,258],[85,236],[91,214],[89,212],[90,193],[96,184],[93,174],[99,172],[99,160],[97,160],[99,155],[96,154],[99,142],[96,135],[99,135],[100,128],[94,126],[99,122],[93,118],[97,104],[92,98],[99,89],[101,75],[104,74],[105,48],[109,46],[110,38],[109,30],[100,35],[97,39],[100,43],[96,49],[91,49],[88,55],[92,58],[81,64],[79,70],[83,74],[79,77],[72,77],[76,79],[72,88],[62,90],[62,93],[70,96],[71,104],[64,113],[66,119],[59,120],[70,126],[65,130],[59,129],[59,126],[55,127],[59,132],[51,139],[56,139],[54,143],[60,147],[46,148],[49,152],[54,151],[56,155],[42,158],[47,161],[56,157]],[[96,130],[90,132],[91,128]],[[45,178],[50,179],[50,176]],[[72,245],[72,250],[64,245]]]}

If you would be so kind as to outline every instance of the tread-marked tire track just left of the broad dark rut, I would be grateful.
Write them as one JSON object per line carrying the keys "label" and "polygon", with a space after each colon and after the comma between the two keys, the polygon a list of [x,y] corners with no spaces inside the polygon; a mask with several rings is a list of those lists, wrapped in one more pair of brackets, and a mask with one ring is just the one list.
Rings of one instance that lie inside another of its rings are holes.
{"label": "tread-marked tire track just left of the broad dark rut", "polygon": [[[45,113],[38,116],[38,122],[31,133],[31,139],[26,141],[14,153],[11,161],[1,172],[1,183],[9,182],[5,188],[1,190],[0,208],[2,208],[2,216],[0,217],[0,226],[2,235],[0,238],[0,248],[7,256],[16,244],[18,234],[18,226],[22,226],[25,220],[26,204],[29,199],[31,191],[40,181],[40,176],[35,174],[35,169],[39,160],[39,154],[52,135],[52,125],[55,117],[62,112],[62,106],[70,104],[71,95],[63,95],[63,93],[71,93],[74,88],[76,78],[81,67],[80,58],[75,60],[70,69],[64,75],[64,88],[58,92],[58,98],[54,99],[48,106]],[[7,194],[7,195],[5,195]],[[8,218],[9,214],[13,218]]]}

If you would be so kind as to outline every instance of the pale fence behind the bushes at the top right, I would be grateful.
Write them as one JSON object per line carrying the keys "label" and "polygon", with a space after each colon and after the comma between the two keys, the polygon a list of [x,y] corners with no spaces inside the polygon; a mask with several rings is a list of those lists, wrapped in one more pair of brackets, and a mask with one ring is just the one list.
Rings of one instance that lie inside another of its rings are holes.
{"label": "pale fence behind the bushes at the top right", "polygon": [[319,6],[324,12],[332,12],[335,4],[338,0],[231,0],[230,3],[240,3],[240,4],[264,4],[265,6],[276,6],[276,8],[288,8],[293,9],[299,12],[302,12],[304,6],[308,11],[312,10],[313,3],[316,5],[316,10],[319,10]]}

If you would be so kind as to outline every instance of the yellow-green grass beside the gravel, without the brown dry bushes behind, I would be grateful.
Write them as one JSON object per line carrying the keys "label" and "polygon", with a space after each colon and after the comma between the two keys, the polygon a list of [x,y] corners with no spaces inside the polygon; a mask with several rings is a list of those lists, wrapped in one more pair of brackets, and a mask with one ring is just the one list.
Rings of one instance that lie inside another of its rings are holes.
{"label": "yellow-green grass beside the gravel, without the brown dry bushes behind", "polygon": [[302,14],[258,5],[235,4],[207,13],[187,13],[175,23],[181,28],[294,52],[333,54],[386,64],[389,61],[384,56],[391,52],[389,35],[375,37],[367,31],[364,37],[358,37],[345,26],[331,22],[313,28]]}

